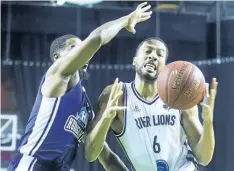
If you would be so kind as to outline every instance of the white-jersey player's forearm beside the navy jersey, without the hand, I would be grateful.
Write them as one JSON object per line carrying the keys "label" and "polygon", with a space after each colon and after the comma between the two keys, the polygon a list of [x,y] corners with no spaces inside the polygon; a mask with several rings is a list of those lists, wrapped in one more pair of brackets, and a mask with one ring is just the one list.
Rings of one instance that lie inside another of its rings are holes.
{"label": "white-jersey player's forearm beside the navy jersey, without the hand", "polygon": [[90,162],[97,159],[101,153],[107,132],[110,128],[112,119],[101,118],[92,131],[87,135],[85,142],[85,156]]}

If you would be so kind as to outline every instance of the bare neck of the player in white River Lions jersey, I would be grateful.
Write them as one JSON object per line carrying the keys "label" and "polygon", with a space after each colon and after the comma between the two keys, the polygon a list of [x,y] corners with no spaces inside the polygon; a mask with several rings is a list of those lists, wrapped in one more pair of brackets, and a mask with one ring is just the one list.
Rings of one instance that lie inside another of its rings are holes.
{"label": "bare neck of the player in white River Lions jersey", "polygon": [[138,76],[135,78],[135,88],[139,95],[146,100],[152,100],[158,93],[156,81],[142,80]]}

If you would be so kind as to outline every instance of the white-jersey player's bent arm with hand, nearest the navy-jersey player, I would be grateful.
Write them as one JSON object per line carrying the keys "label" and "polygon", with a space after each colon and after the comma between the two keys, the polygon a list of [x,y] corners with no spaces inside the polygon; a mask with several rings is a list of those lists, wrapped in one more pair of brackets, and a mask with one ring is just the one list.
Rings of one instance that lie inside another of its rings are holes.
{"label": "white-jersey player's bent arm with hand, nearest the navy-jersey player", "polygon": [[89,123],[85,135],[85,157],[90,162],[96,160],[101,153],[116,112],[125,109],[125,107],[117,106],[122,93],[122,86],[116,79],[114,85],[107,86],[98,99],[96,116]]}

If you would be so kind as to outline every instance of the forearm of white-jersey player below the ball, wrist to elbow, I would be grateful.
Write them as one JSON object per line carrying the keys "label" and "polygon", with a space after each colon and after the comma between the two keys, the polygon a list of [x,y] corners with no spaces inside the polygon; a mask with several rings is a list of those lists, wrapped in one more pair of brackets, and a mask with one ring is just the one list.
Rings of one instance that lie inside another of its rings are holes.
{"label": "forearm of white-jersey player below the ball, wrist to elbow", "polygon": [[203,133],[196,146],[195,155],[198,162],[208,165],[212,160],[215,147],[214,129],[211,121],[204,121]]}

